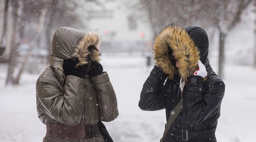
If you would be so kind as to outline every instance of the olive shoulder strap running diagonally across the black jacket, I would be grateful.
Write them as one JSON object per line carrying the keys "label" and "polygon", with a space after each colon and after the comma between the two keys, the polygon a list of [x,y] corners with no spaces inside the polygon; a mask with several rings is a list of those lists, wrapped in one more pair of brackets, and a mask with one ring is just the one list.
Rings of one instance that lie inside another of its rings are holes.
{"label": "olive shoulder strap running diagonally across the black jacket", "polygon": [[[175,106],[175,108],[173,109],[173,111],[171,112],[171,115],[168,118],[168,121],[166,123],[166,128],[164,130],[163,133],[163,137],[162,139],[164,139],[166,137],[166,134],[169,130],[169,128],[171,127],[173,121],[176,119],[176,117],[180,114],[180,111],[182,110],[183,106],[182,106],[182,100]],[[161,140],[162,140],[161,139]]]}

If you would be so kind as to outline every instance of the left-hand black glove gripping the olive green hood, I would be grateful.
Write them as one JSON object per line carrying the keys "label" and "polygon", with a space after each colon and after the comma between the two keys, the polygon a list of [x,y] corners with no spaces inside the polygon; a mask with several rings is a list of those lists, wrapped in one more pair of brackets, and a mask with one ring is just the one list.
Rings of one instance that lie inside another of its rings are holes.
{"label": "left-hand black glove gripping the olive green hood", "polygon": [[76,64],[79,62],[78,58],[68,58],[63,60],[63,70],[65,76],[67,75],[75,75],[76,72]]}

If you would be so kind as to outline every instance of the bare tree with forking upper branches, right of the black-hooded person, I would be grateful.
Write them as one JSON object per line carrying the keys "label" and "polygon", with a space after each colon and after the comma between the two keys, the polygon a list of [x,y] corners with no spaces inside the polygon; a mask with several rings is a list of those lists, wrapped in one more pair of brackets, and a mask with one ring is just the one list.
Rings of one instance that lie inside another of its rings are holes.
{"label": "bare tree with forking upper branches, right of the black-hooded person", "polygon": [[224,78],[225,41],[229,31],[240,22],[240,16],[253,0],[223,1],[220,0],[217,9],[217,28],[219,30],[219,71],[218,75]]}

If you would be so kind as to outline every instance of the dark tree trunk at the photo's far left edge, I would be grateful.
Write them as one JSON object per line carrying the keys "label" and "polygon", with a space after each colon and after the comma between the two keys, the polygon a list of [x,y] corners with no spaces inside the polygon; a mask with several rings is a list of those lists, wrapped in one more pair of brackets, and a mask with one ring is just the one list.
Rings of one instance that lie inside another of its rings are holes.
{"label": "dark tree trunk at the photo's far left edge", "polygon": [[6,3],[4,5],[4,13],[3,13],[3,31],[2,31],[2,38],[0,43],[0,56],[3,54],[5,48],[6,48],[6,31],[7,31],[7,12],[8,12],[8,0],[6,0]]}

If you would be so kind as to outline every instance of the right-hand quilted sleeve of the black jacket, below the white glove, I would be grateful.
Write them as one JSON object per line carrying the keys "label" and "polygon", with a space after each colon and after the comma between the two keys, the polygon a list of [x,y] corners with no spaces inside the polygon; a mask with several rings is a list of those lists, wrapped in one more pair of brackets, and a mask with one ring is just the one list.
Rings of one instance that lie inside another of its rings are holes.
{"label": "right-hand quilted sleeve of the black jacket, below the white glove", "polygon": [[187,81],[183,91],[183,118],[187,123],[195,125],[220,109],[225,84],[217,76],[209,78],[207,83],[198,75],[188,76]]}

